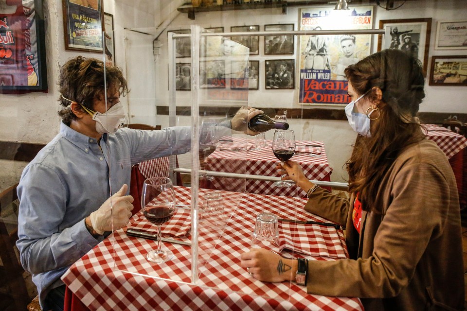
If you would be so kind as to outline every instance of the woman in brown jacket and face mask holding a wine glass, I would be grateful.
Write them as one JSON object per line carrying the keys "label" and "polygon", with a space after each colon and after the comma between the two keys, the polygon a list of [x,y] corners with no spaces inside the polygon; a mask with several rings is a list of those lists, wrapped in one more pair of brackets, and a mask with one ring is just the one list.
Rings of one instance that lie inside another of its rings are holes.
{"label": "woman in brown jacket and face mask holding a wine glass", "polygon": [[[365,310],[462,310],[459,199],[448,159],[415,117],[425,97],[421,64],[384,50],[345,75],[345,112],[361,135],[347,162],[350,200],[308,181],[297,163],[284,165],[307,191],[305,210],[346,227],[350,259],[308,260],[307,292],[360,297]],[[296,259],[264,249],[241,259],[259,280],[296,278]]]}

